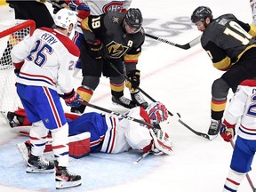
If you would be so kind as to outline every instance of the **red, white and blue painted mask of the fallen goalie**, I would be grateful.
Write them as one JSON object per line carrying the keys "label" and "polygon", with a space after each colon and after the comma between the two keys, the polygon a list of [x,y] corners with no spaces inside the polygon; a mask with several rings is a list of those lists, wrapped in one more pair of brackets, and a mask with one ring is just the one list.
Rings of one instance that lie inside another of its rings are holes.
{"label": "red, white and blue painted mask of the fallen goalie", "polygon": [[161,102],[151,103],[148,108],[146,108],[146,112],[150,119],[150,124],[160,124],[168,118],[167,108],[165,108]]}

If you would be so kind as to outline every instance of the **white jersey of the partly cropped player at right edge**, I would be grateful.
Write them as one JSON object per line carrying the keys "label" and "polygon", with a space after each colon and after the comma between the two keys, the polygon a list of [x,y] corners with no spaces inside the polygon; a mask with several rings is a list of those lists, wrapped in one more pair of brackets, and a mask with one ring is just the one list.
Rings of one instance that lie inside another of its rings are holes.
{"label": "white jersey of the partly cropped player at right edge", "polygon": [[245,140],[256,140],[256,80],[244,80],[239,84],[224,119],[228,124],[236,124],[240,116],[237,135]]}

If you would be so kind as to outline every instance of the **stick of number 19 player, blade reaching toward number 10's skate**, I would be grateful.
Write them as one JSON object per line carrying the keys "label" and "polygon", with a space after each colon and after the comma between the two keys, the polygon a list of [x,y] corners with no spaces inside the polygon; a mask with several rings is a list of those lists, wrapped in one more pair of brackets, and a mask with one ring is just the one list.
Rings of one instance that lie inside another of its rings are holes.
{"label": "stick of number 19 player, blade reaching toward number 10's skate", "polygon": [[[107,61],[108,61],[108,60],[107,60]],[[111,63],[111,62],[108,61],[108,64],[110,65],[111,68],[114,68],[114,69],[116,70],[116,72],[117,72],[120,76],[123,76],[126,81],[131,82],[130,79],[128,78],[128,76],[122,74],[122,73],[116,68],[116,66],[113,65],[113,63]],[[152,97],[150,97],[147,92],[144,92],[142,89],[140,89],[139,86],[137,87],[137,89],[140,90],[140,92],[142,92],[146,97],[148,97],[149,100],[152,100],[153,102],[156,102],[156,100],[154,100]],[[168,114],[169,114],[170,116],[174,116],[169,110],[167,110],[167,111],[168,111]],[[196,135],[198,135],[198,136],[200,136],[200,137],[204,137],[205,139],[210,140],[209,135],[207,135],[207,134],[205,134],[205,133],[203,133],[203,132],[196,132],[196,130],[192,129],[190,126],[188,126],[188,124],[185,124],[185,123],[180,119],[180,114],[177,113],[177,116],[179,117],[179,118],[178,118],[178,122],[179,122],[180,124],[182,124],[183,126],[185,126],[186,128],[188,128],[188,130],[190,130],[191,132],[194,132]]]}

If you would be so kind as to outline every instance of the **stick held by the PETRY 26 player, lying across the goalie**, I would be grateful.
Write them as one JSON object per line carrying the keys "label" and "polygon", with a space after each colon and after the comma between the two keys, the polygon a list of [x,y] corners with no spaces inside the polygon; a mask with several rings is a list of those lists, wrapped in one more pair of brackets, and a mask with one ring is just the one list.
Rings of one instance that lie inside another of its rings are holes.
{"label": "stick held by the PETRY 26 player, lying across the goalie", "polygon": [[92,105],[91,103],[85,102],[85,101],[83,101],[83,100],[79,100],[79,102],[80,102],[82,105],[84,105],[84,106],[89,106],[89,107],[91,107],[91,108],[96,108],[96,109],[98,109],[98,110],[104,111],[104,112],[106,112],[106,113],[108,113],[108,114],[110,114],[110,115],[113,115],[113,116],[118,116],[118,117],[126,118],[126,119],[128,119],[128,120],[131,120],[131,121],[136,122],[136,123],[139,123],[139,124],[148,125],[149,127],[152,127],[152,128],[153,128],[153,127],[154,127],[154,128],[158,128],[157,126],[155,126],[155,124],[148,124],[147,122],[144,122],[144,121],[142,121],[142,120],[140,120],[140,119],[133,118],[132,116],[126,116],[126,115],[124,115],[124,114],[117,113],[117,112],[112,111],[112,110],[109,110],[109,109],[107,109],[107,108],[101,108],[101,107],[99,107],[99,106]]}

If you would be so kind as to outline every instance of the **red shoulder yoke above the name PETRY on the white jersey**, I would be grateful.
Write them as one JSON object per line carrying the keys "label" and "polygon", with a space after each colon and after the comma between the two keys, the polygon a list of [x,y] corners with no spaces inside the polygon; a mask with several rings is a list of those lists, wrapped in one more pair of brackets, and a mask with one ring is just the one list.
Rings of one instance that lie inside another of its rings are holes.
{"label": "red shoulder yoke above the name PETRY on the white jersey", "polygon": [[61,34],[54,28],[39,28],[39,29],[43,30],[45,32],[51,33],[53,36],[56,36],[59,39],[59,41],[61,42],[61,44],[63,44],[66,47],[66,49],[68,50],[68,52],[70,54],[72,54],[76,57],[79,57],[80,51],[79,51],[78,47],[76,46],[76,44],[74,44],[71,41],[71,39],[68,36]]}

